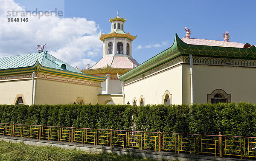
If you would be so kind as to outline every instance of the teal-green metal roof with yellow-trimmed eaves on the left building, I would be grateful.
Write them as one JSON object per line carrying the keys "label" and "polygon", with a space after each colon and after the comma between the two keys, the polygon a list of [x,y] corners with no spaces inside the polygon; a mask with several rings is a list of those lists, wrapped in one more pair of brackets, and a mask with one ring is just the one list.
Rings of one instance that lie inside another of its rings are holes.
{"label": "teal-green metal roof with yellow-trimmed eaves on the left building", "polygon": [[[61,68],[61,66],[64,66],[64,68]],[[105,81],[107,78],[107,76],[101,77],[84,74],[71,65],[48,54],[47,51],[0,58],[0,75],[32,71],[97,82]]]}

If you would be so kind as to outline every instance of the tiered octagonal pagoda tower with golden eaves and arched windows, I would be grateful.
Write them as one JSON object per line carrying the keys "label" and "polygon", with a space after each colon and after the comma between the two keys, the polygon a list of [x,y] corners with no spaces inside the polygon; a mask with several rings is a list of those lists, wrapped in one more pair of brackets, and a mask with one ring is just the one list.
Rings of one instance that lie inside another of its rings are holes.
{"label": "tiered octagonal pagoda tower with golden eaves and arched windows", "polygon": [[122,75],[139,65],[132,58],[132,41],[136,36],[124,31],[126,20],[120,18],[118,12],[115,18],[110,18],[111,32],[101,33],[99,37],[103,42],[102,58],[91,68],[87,65],[87,69],[81,70],[85,74],[95,76],[108,74],[108,79],[101,83],[102,94],[122,94],[122,82],[119,81],[116,73]]}

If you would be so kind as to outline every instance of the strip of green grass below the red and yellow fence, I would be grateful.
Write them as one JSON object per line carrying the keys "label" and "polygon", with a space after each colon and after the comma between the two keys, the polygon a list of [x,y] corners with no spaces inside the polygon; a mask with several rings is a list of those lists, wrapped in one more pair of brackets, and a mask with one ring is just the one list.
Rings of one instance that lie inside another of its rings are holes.
{"label": "strip of green grass below the red and yellow fence", "polygon": [[36,147],[23,142],[0,141],[1,161],[153,161],[134,155],[111,153],[87,153],[81,150],[67,150],[58,147]]}

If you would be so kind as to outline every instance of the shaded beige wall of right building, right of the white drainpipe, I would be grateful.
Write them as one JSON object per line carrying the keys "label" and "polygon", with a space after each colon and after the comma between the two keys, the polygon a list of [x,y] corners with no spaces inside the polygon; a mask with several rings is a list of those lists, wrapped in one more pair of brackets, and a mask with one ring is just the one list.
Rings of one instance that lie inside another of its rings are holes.
{"label": "shaded beige wall of right building, right of the white drainpipe", "polygon": [[222,89],[231,102],[256,103],[256,68],[194,65],[194,102],[207,103],[207,94]]}

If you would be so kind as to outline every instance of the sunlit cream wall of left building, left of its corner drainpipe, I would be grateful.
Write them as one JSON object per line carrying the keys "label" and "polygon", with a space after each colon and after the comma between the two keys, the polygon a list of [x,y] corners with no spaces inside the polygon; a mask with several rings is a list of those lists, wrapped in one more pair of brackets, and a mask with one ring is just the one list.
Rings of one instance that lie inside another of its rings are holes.
{"label": "sunlit cream wall of left building, left of its corner drainpipe", "polygon": [[0,82],[0,89],[0,104],[14,105],[17,94],[23,94],[25,105],[31,105],[32,79]]}

